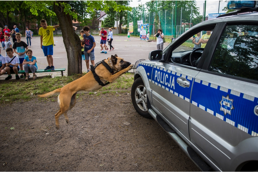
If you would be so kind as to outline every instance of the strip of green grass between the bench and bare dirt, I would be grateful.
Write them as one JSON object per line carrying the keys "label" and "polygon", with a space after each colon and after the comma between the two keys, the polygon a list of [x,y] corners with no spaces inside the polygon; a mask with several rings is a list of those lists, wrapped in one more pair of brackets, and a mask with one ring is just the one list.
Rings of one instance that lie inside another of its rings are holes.
{"label": "strip of green grass between the bench and bare dirt", "polygon": [[[62,88],[63,86],[84,76],[85,74],[86,73],[64,77],[57,76],[55,78],[44,77],[29,82],[24,82],[24,80],[15,80],[12,82],[0,83],[0,104],[11,103],[17,100],[31,100],[35,95],[45,94],[57,88]],[[127,89],[131,87],[133,84],[133,76],[134,74],[126,73],[121,77],[117,78],[113,83],[104,86],[99,90],[92,91],[88,94],[94,95],[94,92],[98,92],[95,95],[99,96],[100,93],[107,94],[128,91]],[[78,98],[82,95],[84,95],[84,93],[77,94],[76,97]],[[56,101],[55,99],[50,100]]]}

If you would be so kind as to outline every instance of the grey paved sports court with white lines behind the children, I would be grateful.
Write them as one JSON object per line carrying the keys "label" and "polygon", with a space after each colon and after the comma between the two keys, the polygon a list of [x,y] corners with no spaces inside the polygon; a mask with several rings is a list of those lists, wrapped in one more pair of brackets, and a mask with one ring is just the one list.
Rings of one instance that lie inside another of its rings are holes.
{"label": "grey paved sports court with white lines behind the children", "polygon": [[[146,42],[140,40],[139,37],[131,37],[131,41],[127,41],[126,36],[114,36],[114,40],[112,41],[112,46],[115,48],[114,51],[108,51],[107,54],[100,53],[100,37],[94,36],[96,41],[96,47],[94,49],[95,52],[95,63],[103,60],[104,58],[110,57],[111,55],[117,54],[119,57],[124,58],[125,61],[129,61],[134,64],[137,60],[140,59],[148,59],[149,52],[153,50],[157,50],[156,42]],[[22,41],[26,42],[25,37],[22,37]],[[63,43],[62,37],[54,37],[54,66],[55,68],[66,68],[68,65],[67,61],[67,53],[65,49],[65,45]],[[47,66],[46,57],[44,57],[43,51],[40,48],[40,37],[33,37],[31,39],[31,48],[33,51],[33,56],[37,58],[37,66],[38,69],[45,69]],[[168,43],[164,43],[164,49],[168,46]],[[108,46],[109,47],[109,46]],[[1,50],[1,54],[5,56],[5,50]],[[16,55],[14,53],[14,55]],[[83,72],[87,71],[85,61],[82,62],[82,70]],[[57,73],[49,73],[52,75],[61,75],[61,72]],[[47,73],[37,74],[38,76],[47,75]],[[64,75],[67,75],[67,71],[64,72]],[[0,76],[0,79],[4,79],[7,77],[6,75]],[[14,78],[14,77],[13,77]]]}

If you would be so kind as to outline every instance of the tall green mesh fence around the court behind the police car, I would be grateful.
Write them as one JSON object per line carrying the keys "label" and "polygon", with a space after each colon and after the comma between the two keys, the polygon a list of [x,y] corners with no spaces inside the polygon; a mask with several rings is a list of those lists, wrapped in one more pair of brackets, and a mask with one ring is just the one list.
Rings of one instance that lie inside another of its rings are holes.
{"label": "tall green mesh fence around the court behind the police car", "polygon": [[131,12],[128,12],[127,21],[133,22],[131,34],[140,36],[137,21],[143,20],[143,24],[149,24],[150,39],[158,29],[162,29],[165,37],[176,38],[192,26],[214,18],[220,13],[225,13],[228,2],[169,1],[170,4],[165,4],[165,6],[164,4],[162,6],[160,1],[152,1],[152,3],[152,8],[149,7],[151,4],[149,6],[145,4],[134,7]]}

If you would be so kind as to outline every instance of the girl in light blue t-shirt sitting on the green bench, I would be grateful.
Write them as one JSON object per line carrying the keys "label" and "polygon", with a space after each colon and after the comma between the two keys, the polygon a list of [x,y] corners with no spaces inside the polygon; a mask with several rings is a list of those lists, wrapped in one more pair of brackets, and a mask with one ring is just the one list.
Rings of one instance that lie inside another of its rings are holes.
{"label": "girl in light blue t-shirt sitting on the green bench", "polygon": [[36,57],[32,56],[32,50],[27,49],[26,55],[23,60],[24,71],[26,73],[25,81],[29,81],[29,72],[33,73],[33,80],[37,79],[35,72],[38,70]]}

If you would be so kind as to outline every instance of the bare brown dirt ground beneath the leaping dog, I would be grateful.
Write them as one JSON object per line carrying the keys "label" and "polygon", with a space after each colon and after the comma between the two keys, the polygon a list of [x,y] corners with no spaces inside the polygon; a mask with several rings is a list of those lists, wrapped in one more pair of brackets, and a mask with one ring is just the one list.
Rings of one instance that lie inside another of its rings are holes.
{"label": "bare brown dirt ground beneath the leaping dog", "polygon": [[1,105],[0,171],[199,171],[154,119],[135,111],[130,91],[78,95],[59,130],[57,96],[49,100]]}

